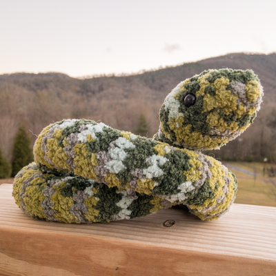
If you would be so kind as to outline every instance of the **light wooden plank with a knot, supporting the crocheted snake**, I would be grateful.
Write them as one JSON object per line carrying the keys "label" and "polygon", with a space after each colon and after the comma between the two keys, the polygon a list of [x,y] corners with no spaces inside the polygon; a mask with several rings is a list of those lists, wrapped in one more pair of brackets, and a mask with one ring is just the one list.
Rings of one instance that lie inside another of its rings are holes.
{"label": "light wooden plank with a knot, supporting the crocheted snake", "polygon": [[234,204],[218,221],[169,209],[75,225],[31,219],[11,193],[0,186],[0,275],[276,275],[275,207]]}

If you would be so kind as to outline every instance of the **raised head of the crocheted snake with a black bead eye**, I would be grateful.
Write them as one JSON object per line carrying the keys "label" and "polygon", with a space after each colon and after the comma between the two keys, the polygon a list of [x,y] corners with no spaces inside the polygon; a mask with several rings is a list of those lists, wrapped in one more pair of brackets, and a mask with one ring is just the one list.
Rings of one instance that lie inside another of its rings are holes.
{"label": "raised head of the crocheted snake with a black bead eye", "polygon": [[154,139],[190,150],[219,149],[250,126],[262,95],[252,70],[201,72],[168,94]]}

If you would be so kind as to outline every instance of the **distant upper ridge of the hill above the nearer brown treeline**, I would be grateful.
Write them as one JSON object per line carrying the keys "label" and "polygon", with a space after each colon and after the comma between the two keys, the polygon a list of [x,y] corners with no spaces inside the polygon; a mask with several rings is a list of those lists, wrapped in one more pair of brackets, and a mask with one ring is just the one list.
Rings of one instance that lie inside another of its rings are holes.
{"label": "distant upper ridge of the hill above the nearer brown treeline", "polygon": [[266,90],[266,97],[273,97],[272,90],[276,87],[276,53],[270,55],[235,53],[193,63],[184,63],[181,66],[144,72],[139,75],[120,77],[75,79],[56,72],[39,74],[21,72],[0,75],[0,81],[1,83],[8,81],[8,83],[13,83],[32,91],[55,89],[57,92],[61,92],[75,90],[81,95],[101,94],[102,97],[106,93],[110,94],[110,92],[112,95],[115,93],[117,97],[128,97],[137,92],[147,91],[150,92],[151,96],[159,97],[160,95],[166,96],[181,80],[192,77],[209,68],[252,69],[262,80]]}

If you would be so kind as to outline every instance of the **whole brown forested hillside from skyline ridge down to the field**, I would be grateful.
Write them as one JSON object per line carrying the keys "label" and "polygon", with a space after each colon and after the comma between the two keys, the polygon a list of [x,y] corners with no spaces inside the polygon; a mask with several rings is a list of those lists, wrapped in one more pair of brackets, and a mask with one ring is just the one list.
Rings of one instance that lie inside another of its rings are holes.
{"label": "whole brown forested hillside from skyline ridge down to the field", "polygon": [[[121,130],[135,131],[141,114],[157,132],[158,111],[164,98],[180,81],[209,68],[253,69],[264,86],[264,104],[255,123],[216,155],[275,158],[276,54],[229,54],[181,66],[130,76],[75,79],[61,73],[0,75],[0,145],[10,158],[11,144],[22,122],[34,134],[52,121],[82,118],[103,121]],[[3,131],[4,130],[4,131]],[[34,141],[36,137],[32,137]]]}

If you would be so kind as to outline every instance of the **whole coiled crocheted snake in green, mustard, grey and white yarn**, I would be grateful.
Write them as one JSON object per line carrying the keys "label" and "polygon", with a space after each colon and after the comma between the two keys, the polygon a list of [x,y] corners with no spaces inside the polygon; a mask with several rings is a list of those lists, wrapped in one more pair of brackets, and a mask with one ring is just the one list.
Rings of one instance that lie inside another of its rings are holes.
{"label": "whole coiled crocheted snake in green, mustard, grey and white yarn", "polygon": [[34,162],[15,177],[14,199],[30,217],[66,223],[131,219],[179,204],[217,219],[233,203],[237,179],[200,151],[244,132],[262,95],[252,70],[207,70],[166,97],[153,139],[86,119],[51,124],[34,144]]}

